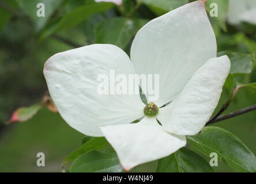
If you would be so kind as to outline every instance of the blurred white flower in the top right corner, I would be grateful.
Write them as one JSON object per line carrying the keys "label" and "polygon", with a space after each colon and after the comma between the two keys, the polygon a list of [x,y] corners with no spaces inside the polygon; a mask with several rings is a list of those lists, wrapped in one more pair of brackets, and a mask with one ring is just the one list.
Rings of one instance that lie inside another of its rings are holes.
{"label": "blurred white flower in the top right corner", "polygon": [[256,0],[229,0],[228,22],[234,25],[240,22],[256,24]]}

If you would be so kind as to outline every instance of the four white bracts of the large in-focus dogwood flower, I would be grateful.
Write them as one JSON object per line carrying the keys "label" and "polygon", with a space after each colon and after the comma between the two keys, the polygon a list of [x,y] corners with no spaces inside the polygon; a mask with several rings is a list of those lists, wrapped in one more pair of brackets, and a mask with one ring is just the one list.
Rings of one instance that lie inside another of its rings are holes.
{"label": "four white bracts of the large in-focus dogwood flower", "polygon": [[[105,136],[123,168],[130,170],[179,150],[186,135],[205,126],[230,68],[228,57],[216,57],[216,50],[204,2],[195,1],[141,28],[130,59],[114,45],[93,44],[50,57],[44,76],[66,122],[85,135]],[[159,74],[160,97],[153,102],[159,113],[145,116],[138,94],[98,94],[97,76],[110,70]]]}

